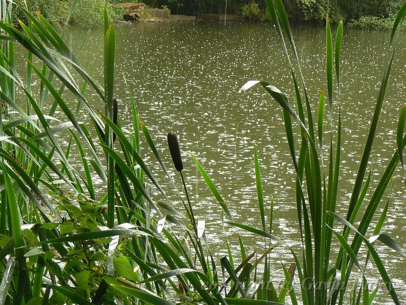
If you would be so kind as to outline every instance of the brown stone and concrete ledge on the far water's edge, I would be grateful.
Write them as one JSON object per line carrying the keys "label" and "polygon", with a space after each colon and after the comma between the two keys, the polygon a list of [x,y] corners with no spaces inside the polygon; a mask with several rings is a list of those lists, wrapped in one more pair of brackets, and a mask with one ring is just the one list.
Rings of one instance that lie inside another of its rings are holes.
{"label": "brown stone and concrete ledge on the far water's edge", "polygon": [[143,21],[143,22],[161,22],[161,21],[195,21],[194,16],[171,15],[170,10],[145,8],[143,3],[120,3],[116,8],[124,10],[124,21]]}

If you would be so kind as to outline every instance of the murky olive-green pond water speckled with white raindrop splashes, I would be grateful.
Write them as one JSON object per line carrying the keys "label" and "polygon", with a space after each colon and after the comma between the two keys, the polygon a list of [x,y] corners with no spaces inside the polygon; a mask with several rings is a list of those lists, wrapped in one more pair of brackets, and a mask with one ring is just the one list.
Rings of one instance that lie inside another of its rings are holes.
{"label": "murky olive-green pond water speckled with white raindrop splashes", "polygon": [[[84,34],[85,31],[81,29],[71,28],[66,37],[77,49]],[[324,28],[300,26],[293,29],[293,35],[315,114],[320,89],[327,86],[325,31]],[[389,36],[389,33],[345,29],[341,97],[334,96],[334,119],[341,108],[343,120],[342,171],[337,201],[337,212],[343,216],[346,215],[387,62]],[[406,97],[406,36],[401,35],[401,38],[368,167],[372,171],[370,190],[377,186],[396,147],[397,116]],[[102,44],[101,29],[91,32],[89,42],[80,56],[87,72],[98,78],[100,83],[103,81],[100,76],[103,72]],[[171,168],[180,187],[180,177],[175,175],[166,148],[167,132],[172,129],[179,135],[191,201],[196,217],[207,222],[206,233],[212,252],[217,257],[226,255],[227,235],[232,250],[238,253],[237,230],[226,226],[223,231],[221,209],[197,172],[189,151],[214,180],[229,204],[235,221],[259,228],[253,167],[254,144],[259,150],[266,214],[271,196],[275,201],[274,234],[299,249],[295,174],[285,139],[282,111],[260,87],[238,94],[239,88],[246,81],[264,79],[281,89],[293,104],[294,89],[287,60],[273,26],[266,23],[224,25],[212,22],[118,25],[117,46],[116,95],[120,100],[120,117],[124,124],[130,124],[131,105],[124,86],[124,72],[141,118],[150,129],[167,167]],[[88,93],[90,100],[91,94]],[[98,100],[94,100],[93,105],[103,109]],[[74,107],[76,103],[72,104]],[[325,129],[328,129],[327,125]],[[298,132],[296,126],[296,138]],[[328,141],[327,132],[325,143]],[[148,164],[162,176],[151,154],[147,153],[147,149],[143,152],[147,154]],[[399,166],[393,188],[383,198],[385,202],[390,200],[383,230],[405,249],[406,203],[401,176]],[[161,182],[167,185],[167,193],[173,195],[168,182],[165,179]],[[100,189],[103,190],[102,185]],[[371,192],[368,192],[366,199],[370,196]],[[263,249],[263,240],[252,238],[243,231],[241,234],[247,252]],[[338,241],[334,242],[338,245]],[[400,299],[406,301],[404,259],[381,245],[377,249],[394,279]],[[283,247],[278,254],[285,262],[293,261]],[[276,279],[280,278],[280,269],[275,260]],[[377,281],[379,274],[372,264],[370,269],[371,282]],[[391,304],[385,290],[379,292],[377,301]]]}

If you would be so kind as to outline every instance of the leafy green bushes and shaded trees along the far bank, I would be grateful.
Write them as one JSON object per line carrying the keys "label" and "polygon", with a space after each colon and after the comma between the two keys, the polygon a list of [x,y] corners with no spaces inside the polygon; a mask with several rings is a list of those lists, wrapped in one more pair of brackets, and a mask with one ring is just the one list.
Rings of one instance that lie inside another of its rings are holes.
{"label": "leafy green bushes and shaded trees along the far bank", "polygon": [[[153,8],[168,8],[171,14],[200,17],[202,14],[243,15],[247,19],[270,20],[265,10],[265,0],[80,0],[71,23],[93,27],[103,22],[106,7],[112,19],[121,19],[122,12],[114,5],[122,2],[143,2]],[[73,0],[15,0],[31,13],[41,12],[53,24],[64,24]],[[330,20],[344,20],[361,28],[389,29],[400,0],[283,0],[287,15],[293,23],[323,23],[326,13]],[[12,19],[25,20],[19,9],[13,11]]]}

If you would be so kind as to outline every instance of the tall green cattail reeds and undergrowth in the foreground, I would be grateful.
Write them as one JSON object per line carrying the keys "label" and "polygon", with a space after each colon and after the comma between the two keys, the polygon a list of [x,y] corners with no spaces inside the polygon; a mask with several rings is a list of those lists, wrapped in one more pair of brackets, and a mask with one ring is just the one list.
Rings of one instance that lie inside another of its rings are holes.
{"label": "tall green cattail reeds and undergrowth in the foreground", "polygon": [[[11,6],[1,4],[0,305],[370,304],[378,287],[369,291],[368,261],[380,273],[387,297],[395,304],[404,302],[398,299],[392,285],[391,279],[396,275],[388,275],[376,244],[383,243],[397,251],[394,254],[397,259],[404,259],[399,245],[381,231],[384,232],[386,214],[390,212],[389,201],[383,200],[386,189],[399,162],[403,166],[406,106],[399,116],[397,147],[393,147],[393,157],[380,173],[375,188],[370,185],[371,173],[366,174],[380,112],[385,106],[394,47],[386,54],[388,64],[365,147],[359,156],[348,213],[342,217],[335,213],[341,165],[341,116],[333,122],[332,107],[333,100],[340,100],[333,97],[340,96],[343,24],[339,24],[333,44],[327,17],[327,95],[321,92],[316,114],[311,109],[313,103],[308,99],[283,4],[281,0],[267,0],[268,13],[289,58],[297,111],[286,95],[266,81],[249,81],[241,92],[259,84],[269,93],[269,103],[277,102],[282,108],[296,176],[301,247],[291,249],[281,239],[283,236],[273,234],[273,202],[264,202],[256,148],[253,166],[258,225],[241,224],[233,218],[229,203],[223,200],[197,158],[191,156],[223,212],[224,226],[246,230],[252,238],[263,240],[262,247],[247,253],[241,238],[226,239],[228,255],[217,259],[205,235],[205,222],[194,215],[187,188],[183,184],[185,193],[178,191],[179,178],[172,178],[167,170],[170,165],[161,159],[160,154],[169,151],[158,151],[154,135],[140,120],[136,100],[131,95],[120,97],[131,102],[133,114],[132,124],[122,126],[118,115],[120,104],[114,92],[116,32],[108,12],[104,13],[105,45],[101,46],[104,62],[99,63],[104,66],[104,82],[99,84],[80,65],[81,49],[73,52],[46,18],[20,8],[29,23],[21,22],[21,27],[16,28],[7,16]],[[405,13],[406,3],[395,19],[390,46],[397,41],[396,29]],[[82,46],[86,46],[86,40],[84,37]],[[26,79],[15,69],[16,44],[27,50]],[[292,60],[287,45],[291,46]],[[33,92],[34,81],[40,82],[39,92]],[[25,100],[16,98],[16,87],[24,92]],[[74,109],[67,104],[72,95],[77,102]],[[104,113],[89,105],[90,97],[105,105]],[[325,104],[328,115],[324,114]],[[81,109],[88,113],[91,122],[86,123],[90,125],[80,123]],[[63,113],[63,119],[55,117],[56,110]],[[326,116],[330,118],[327,121]],[[299,139],[294,139],[293,128],[300,129]],[[330,133],[324,143],[326,128]],[[67,146],[58,138],[61,131],[70,133]],[[298,149],[296,140],[300,142]],[[168,144],[178,175],[184,181],[181,150],[173,133],[168,134]],[[329,148],[327,156],[321,155],[323,145]],[[161,168],[159,176],[154,176],[143,161],[142,151],[147,149]],[[69,161],[73,154],[81,157],[80,171]],[[106,185],[104,196],[96,196],[95,177]],[[164,190],[163,180],[172,187]],[[169,199],[166,195],[169,192],[178,199]],[[367,192],[372,194],[369,200],[365,198]],[[267,216],[266,205],[270,211]],[[367,207],[361,209],[364,205]],[[378,222],[371,225],[377,218]],[[355,223],[355,219],[361,221]],[[239,258],[231,253],[230,242],[240,246]],[[361,246],[367,249],[366,257],[359,255]],[[271,259],[270,252],[278,253],[279,247],[291,253],[289,262]],[[338,255],[331,256],[331,249],[339,251]],[[274,273],[275,264],[280,264],[281,274]],[[359,287],[349,286],[350,279],[359,277],[362,278]],[[277,285],[274,281],[280,278],[283,283]]]}

